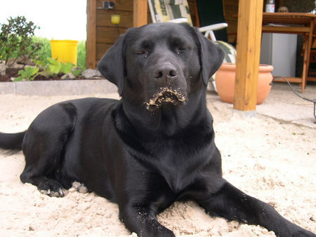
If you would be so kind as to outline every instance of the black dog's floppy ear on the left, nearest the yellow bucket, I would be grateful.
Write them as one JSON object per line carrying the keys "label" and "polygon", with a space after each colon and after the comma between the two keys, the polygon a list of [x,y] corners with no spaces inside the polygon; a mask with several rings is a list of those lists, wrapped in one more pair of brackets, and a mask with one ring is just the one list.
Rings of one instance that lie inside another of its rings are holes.
{"label": "black dog's floppy ear on the left, nearest the yellow bucket", "polygon": [[125,34],[119,36],[117,42],[107,50],[98,62],[98,70],[105,79],[117,85],[119,95],[123,93],[124,78],[126,77],[123,56],[124,36]]}

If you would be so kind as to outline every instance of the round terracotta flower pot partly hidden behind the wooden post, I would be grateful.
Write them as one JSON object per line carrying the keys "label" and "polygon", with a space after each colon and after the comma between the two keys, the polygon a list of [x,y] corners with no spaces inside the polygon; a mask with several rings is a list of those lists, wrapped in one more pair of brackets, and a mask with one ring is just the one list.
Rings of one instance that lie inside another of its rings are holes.
{"label": "round terracotta flower pot partly hidden behind the wooden post", "polygon": [[[273,67],[260,65],[258,76],[257,104],[261,104],[270,93]],[[220,100],[234,102],[236,65],[224,62],[216,72],[216,88]]]}

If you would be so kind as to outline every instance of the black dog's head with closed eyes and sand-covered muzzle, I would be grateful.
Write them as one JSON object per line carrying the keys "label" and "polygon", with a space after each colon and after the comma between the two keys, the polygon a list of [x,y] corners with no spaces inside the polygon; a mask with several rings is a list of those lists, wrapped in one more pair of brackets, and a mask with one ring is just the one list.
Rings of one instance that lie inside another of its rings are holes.
{"label": "black dog's head with closed eyes and sand-covered muzzle", "polygon": [[120,36],[98,69],[124,99],[154,110],[162,104],[184,104],[189,93],[205,88],[222,62],[222,50],[197,29],[154,23]]}

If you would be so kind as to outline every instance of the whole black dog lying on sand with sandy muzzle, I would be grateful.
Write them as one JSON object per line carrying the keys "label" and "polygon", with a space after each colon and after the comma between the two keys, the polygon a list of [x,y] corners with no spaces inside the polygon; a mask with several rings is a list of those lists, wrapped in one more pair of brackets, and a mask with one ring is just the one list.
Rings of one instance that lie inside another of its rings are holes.
{"label": "whole black dog lying on sand with sandy muzzle", "polygon": [[55,104],[25,133],[1,133],[0,147],[23,150],[22,182],[50,196],[83,182],[118,203],[119,218],[139,236],[174,236],[156,215],[178,200],[277,236],[315,236],[223,179],[206,109],[206,84],[222,60],[222,51],[188,25],[129,29],[98,65],[121,100]]}

